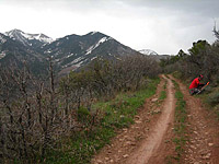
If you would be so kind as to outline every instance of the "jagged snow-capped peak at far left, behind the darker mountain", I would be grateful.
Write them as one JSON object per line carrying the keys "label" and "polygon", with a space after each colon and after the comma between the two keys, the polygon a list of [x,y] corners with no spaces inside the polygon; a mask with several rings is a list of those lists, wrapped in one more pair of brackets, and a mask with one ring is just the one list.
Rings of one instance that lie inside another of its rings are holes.
{"label": "jagged snow-capped peak at far left, behind the darker mountain", "polygon": [[34,48],[53,42],[53,38],[44,34],[28,34],[20,30],[12,30],[10,32],[5,32],[4,34],[12,39],[22,43],[24,46],[32,46]]}

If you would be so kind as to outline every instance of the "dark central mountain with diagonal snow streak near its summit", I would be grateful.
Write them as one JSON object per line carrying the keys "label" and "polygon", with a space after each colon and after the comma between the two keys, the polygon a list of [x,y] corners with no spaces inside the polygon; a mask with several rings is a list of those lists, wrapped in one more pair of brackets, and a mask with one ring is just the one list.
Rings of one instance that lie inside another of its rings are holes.
{"label": "dark central mountain with diagonal snow streak near its summit", "polygon": [[80,68],[95,58],[118,59],[138,51],[100,32],[87,35],[68,35],[43,47],[45,55],[53,56],[61,69]]}

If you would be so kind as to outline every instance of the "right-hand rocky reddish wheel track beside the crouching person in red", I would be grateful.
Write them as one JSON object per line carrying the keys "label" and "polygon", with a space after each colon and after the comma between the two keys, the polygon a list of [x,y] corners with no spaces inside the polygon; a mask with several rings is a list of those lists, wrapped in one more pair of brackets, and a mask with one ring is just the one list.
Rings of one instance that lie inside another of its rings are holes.
{"label": "right-hand rocky reddish wheel track beside the crouching person in red", "polygon": [[188,112],[189,142],[186,144],[182,163],[219,164],[219,125],[215,115],[205,109],[199,98],[191,96],[185,85],[177,82]]}

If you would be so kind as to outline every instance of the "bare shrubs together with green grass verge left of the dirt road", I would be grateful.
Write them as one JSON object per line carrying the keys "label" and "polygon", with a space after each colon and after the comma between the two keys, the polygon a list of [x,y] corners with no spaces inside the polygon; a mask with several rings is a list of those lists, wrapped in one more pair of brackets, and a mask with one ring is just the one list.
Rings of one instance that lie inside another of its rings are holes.
{"label": "bare shrubs together with green grass verge left of the dirt road", "polygon": [[[62,79],[56,78],[53,61],[48,78],[35,78],[27,67],[0,73],[0,161],[85,163],[116,128],[131,122],[154,93],[150,79],[160,69],[155,61],[134,56],[96,59]],[[129,94],[118,98],[122,93]]]}

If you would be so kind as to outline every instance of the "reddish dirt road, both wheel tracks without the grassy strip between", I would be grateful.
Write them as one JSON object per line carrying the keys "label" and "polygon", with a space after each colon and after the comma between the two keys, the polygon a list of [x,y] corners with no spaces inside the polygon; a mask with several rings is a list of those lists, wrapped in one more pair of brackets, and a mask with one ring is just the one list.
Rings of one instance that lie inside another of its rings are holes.
{"label": "reddish dirt road, both wheel tracks without the grassy strip between", "polygon": [[[173,78],[172,78],[173,79]],[[207,112],[200,99],[188,94],[177,81],[187,104],[188,139],[182,164],[219,164],[219,126],[212,114]],[[166,98],[160,101],[166,83]],[[147,99],[135,117],[135,124],[118,131],[92,160],[92,164],[165,164],[175,155],[174,138],[174,85],[171,79],[161,77],[157,94]],[[169,161],[170,163],[170,161]],[[178,161],[175,161],[178,163]]]}

